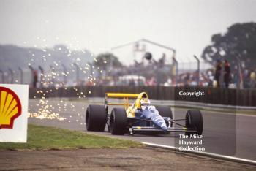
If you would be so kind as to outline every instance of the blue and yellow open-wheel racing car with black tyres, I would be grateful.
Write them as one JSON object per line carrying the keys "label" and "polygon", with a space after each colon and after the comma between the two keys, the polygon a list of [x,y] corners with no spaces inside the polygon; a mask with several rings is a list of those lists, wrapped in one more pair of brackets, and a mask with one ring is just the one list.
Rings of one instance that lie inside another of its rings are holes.
{"label": "blue and yellow open-wheel racing car with black tyres", "polygon": [[[124,102],[112,102],[110,99],[124,99]],[[129,103],[129,99],[135,102]],[[114,107],[108,113],[109,106]],[[177,123],[185,121],[185,125]],[[176,126],[174,127],[173,124]],[[203,117],[200,110],[188,110],[184,119],[173,119],[170,107],[154,106],[148,99],[148,94],[120,94],[106,93],[104,105],[89,105],[86,110],[86,129],[88,131],[105,131],[116,135],[135,133],[159,133],[184,132],[186,135],[203,132]]]}

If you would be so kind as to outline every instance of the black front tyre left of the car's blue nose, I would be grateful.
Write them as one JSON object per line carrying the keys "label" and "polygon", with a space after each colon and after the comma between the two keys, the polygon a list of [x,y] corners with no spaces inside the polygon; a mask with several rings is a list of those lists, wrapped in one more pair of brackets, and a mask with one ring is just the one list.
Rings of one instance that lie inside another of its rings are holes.
{"label": "black front tyre left of the car's blue nose", "polygon": [[111,134],[123,135],[127,132],[127,112],[123,108],[113,108],[109,127]]}

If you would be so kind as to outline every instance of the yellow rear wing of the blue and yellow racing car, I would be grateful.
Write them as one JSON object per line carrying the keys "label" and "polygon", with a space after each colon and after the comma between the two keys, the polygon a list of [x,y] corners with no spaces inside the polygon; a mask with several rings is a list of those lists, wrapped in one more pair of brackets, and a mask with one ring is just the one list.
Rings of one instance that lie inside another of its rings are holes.
{"label": "yellow rear wing of the blue and yellow racing car", "polygon": [[[132,104],[129,104],[129,98],[130,99],[137,99],[139,95],[140,94],[106,93],[104,104],[105,104],[105,107],[108,107],[108,106],[111,106],[111,105],[115,105],[115,106],[116,105],[121,105],[121,106],[124,106],[126,108],[126,107],[129,107],[130,105],[132,105]],[[109,98],[114,98],[114,99],[123,98],[124,102],[123,103],[109,103],[108,102]]]}

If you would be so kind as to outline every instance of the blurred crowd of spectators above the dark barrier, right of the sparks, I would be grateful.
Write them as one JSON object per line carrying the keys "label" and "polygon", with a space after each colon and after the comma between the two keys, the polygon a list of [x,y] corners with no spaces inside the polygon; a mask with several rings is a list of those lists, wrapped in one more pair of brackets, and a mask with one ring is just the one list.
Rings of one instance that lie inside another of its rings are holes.
{"label": "blurred crowd of spectators above the dark barrier, right of the sparks", "polygon": [[[172,66],[167,66],[164,72],[154,69],[153,72],[121,72],[120,75],[108,75],[99,78],[98,85],[108,86],[210,86],[225,88],[256,88],[256,68],[239,69],[238,66],[231,67],[230,63],[217,61],[210,69],[195,72],[183,72],[177,76],[171,73]],[[150,68],[150,66],[148,66]],[[131,67],[129,68],[131,69]],[[142,70],[146,68],[142,68]],[[125,70],[125,69],[123,69]],[[128,73],[128,74],[126,74]],[[199,79],[198,79],[199,75]],[[161,79],[159,79],[161,77]]]}

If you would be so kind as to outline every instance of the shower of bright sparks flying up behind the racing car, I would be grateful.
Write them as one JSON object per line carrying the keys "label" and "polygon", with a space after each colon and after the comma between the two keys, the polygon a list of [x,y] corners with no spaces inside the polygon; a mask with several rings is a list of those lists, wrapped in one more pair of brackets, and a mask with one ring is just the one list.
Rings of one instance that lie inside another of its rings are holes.
{"label": "shower of bright sparks flying up behind the racing car", "polygon": [[[59,37],[55,38],[56,40],[59,40]],[[67,48],[48,48],[48,41],[47,39],[44,39],[43,37],[37,37],[37,41],[42,41],[42,56],[38,56],[37,54],[31,53],[30,51],[30,61],[28,62],[28,66],[33,66],[34,61],[42,60],[42,62],[46,62],[48,60],[53,60],[53,53],[55,51],[61,51],[62,53],[65,53],[63,56],[64,58],[71,58],[73,61],[73,64],[70,64],[69,68],[64,68],[63,64],[61,64],[61,61],[53,61],[52,65],[49,69],[45,69],[45,72],[39,72],[39,80],[40,80],[40,86],[50,88],[50,90],[37,91],[38,96],[40,97],[39,102],[37,103],[38,110],[36,112],[31,112],[29,109],[29,117],[30,118],[38,118],[38,119],[50,119],[50,120],[58,120],[58,121],[67,121],[79,123],[80,125],[84,125],[84,116],[83,113],[77,112],[75,107],[75,104],[67,103],[61,100],[58,104],[53,105],[48,102],[47,96],[48,94],[52,94],[54,89],[58,90],[59,88],[64,88],[64,90],[67,90],[69,88],[69,85],[67,85],[67,82],[65,80],[68,80],[67,77],[72,77],[74,74],[73,72],[77,72],[77,70],[82,74],[80,77],[84,78],[84,81],[89,83],[91,86],[97,85],[97,75],[96,73],[102,73],[102,69],[100,67],[96,67],[93,64],[84,63],[81,58],[78,58],[75,56],[77,53],[88,53],[86,50],[80,50],[79,42],[77,38],[72,38],[71,42],[65,41],[66,45],[69,45]],[[28,42],[24,42],[24,44],[27,44]],[[34,47],[38,47],[38,45],[34,45]],[[72,50],[73,49],[73,50]],[[94,58],[94,55],[91,54],[91,59],[94,62],[98,62],[96,58]],[[104,61],[106,64],[107,61]],[[59,69],[62,67],[62,69]],[[69,69],[69,71],[67,71]],[[61,70],[61,71],[60,71]],[[79,73],[79,74],[80,74]],[[78,84],[78,83],[77,83]],[[73,86],[73,85],[71,85]],[[75,85],[78,86],[78,85]],[[73,87],[73,90],[75,91],[75,94],[79,99],[86,98],[86,94],[91,94],[91,91],[84,92],[80,91],[78,88]],[[37,96],[34,96],[34,99],[37,99]],[[85,107],[82,107],[82,110],[85,111]],[[69,117],[61,116],[62,113],[72,111],[72,115],[69,115]],[[72,120],[72,117],[74,117],[75,120]]]}

